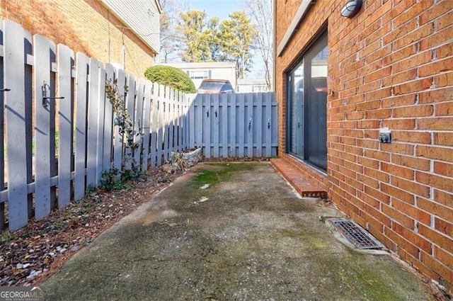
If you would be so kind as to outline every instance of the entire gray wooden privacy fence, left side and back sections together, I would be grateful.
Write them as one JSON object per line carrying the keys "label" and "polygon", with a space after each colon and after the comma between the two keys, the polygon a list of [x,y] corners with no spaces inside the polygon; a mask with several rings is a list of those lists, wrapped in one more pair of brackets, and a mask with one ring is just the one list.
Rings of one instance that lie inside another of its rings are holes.
{"label": "entire gray wooden privacy fence, left side and back sections together", "polygon": [[[107,83],[130,115],[130,141]],[[274,156],[274,98],[185,95],[1,21],[0,229],[80,200],[105,171],[144,171],[189,147],[206,157]]]}

